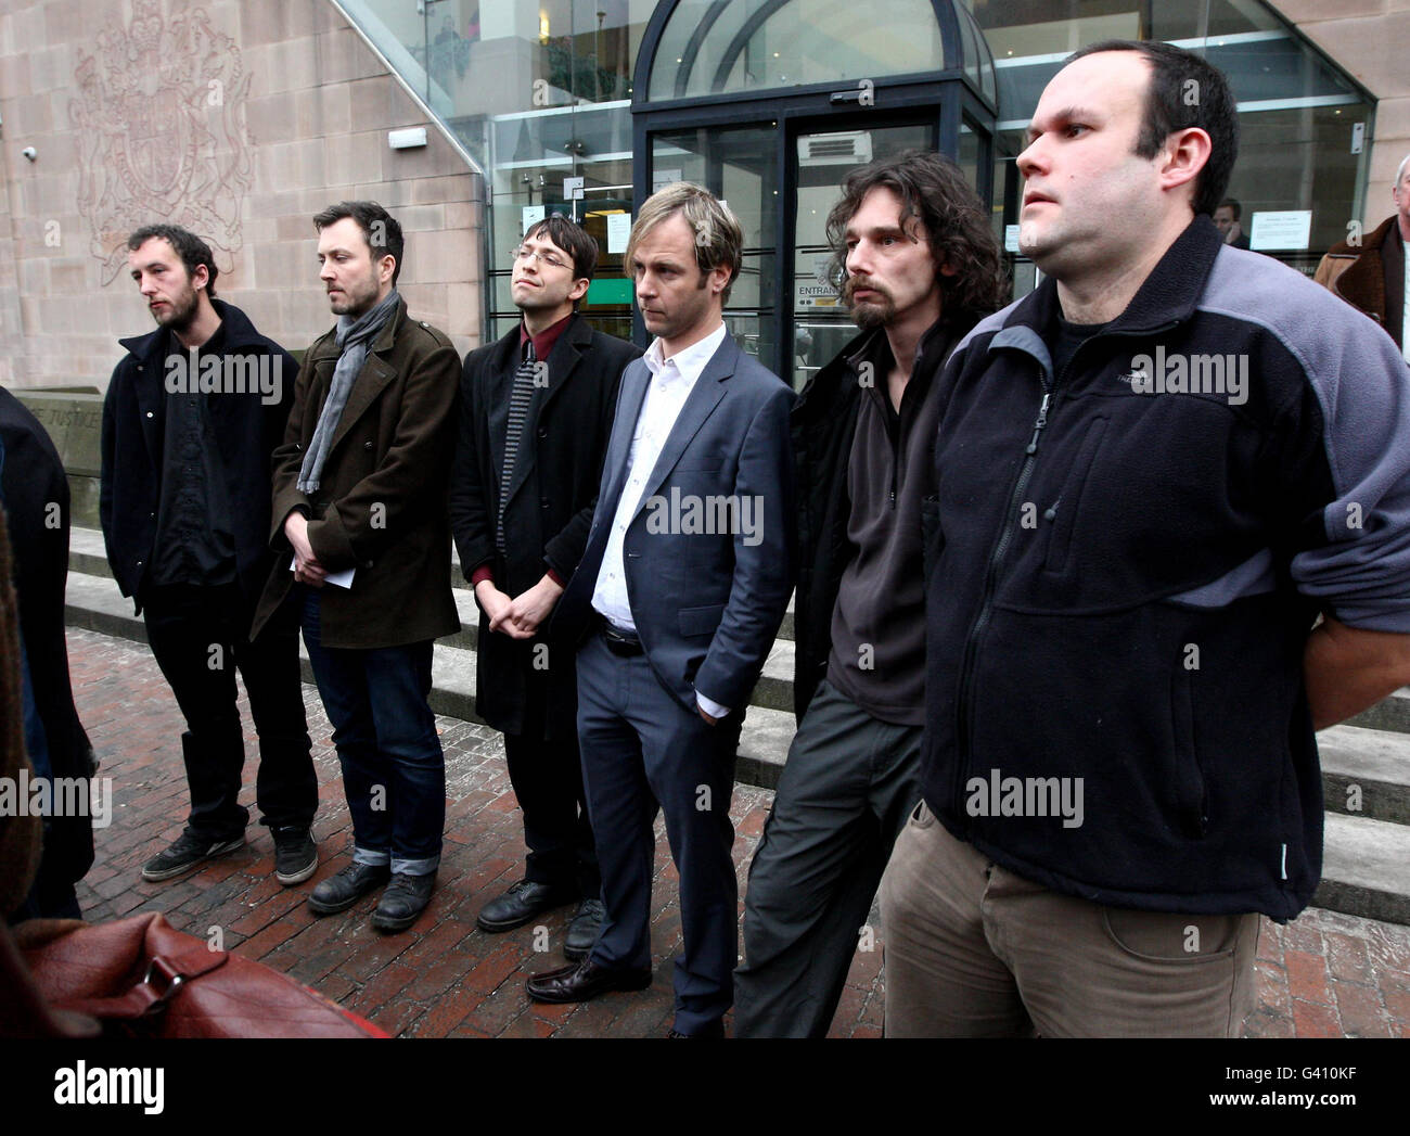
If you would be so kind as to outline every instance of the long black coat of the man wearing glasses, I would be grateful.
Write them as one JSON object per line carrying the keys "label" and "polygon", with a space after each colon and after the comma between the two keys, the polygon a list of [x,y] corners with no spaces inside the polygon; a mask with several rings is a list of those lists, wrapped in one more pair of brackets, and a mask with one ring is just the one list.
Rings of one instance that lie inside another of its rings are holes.
{"label": "long black coat of the man wearing glasses", "polygon": [[[632,343],[572,316],[548,353],[547,385],[534,388],[508,490],[501,485],[503,428],[491,430],[491,409],[499,408],[499,421],[506,418],[520,358],[519,327],[465,356],[450,518],[467,580],[488,564],[495,587],[508,596],[533,587],[547,569],[568,581],[587,546],[622,371],[640,354]],[[506,491],[501,556],[495,519]],[[539,738],[577,731],[574,649],[547,635],[548,622],[533,639],[510,639],[491,632],[481,612],[475,707],[495,730]]]}

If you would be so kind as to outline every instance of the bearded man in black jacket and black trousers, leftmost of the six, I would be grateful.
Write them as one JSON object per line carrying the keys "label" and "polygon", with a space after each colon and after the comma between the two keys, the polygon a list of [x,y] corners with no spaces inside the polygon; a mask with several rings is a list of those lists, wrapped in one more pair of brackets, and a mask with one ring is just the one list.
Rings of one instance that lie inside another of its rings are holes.
{"label": "bearded man in black jacket and black trousers, leftmost of the six", "polygon": [[259,734],[257,796],[274,831],[275,876],[300,883],[319,864],[309,831],[319,782],[298,625],[282,620],[250,636],[274,563],[269,459],[298,364],[214,299],[219,270],[200,237],[154,224],[127,248],[157,330],[121,340],[127,356],[103,401],[103,539],[186,718],[192,800],[185,831],[142,865],[142,879],[172,879],[245,842],[238,666]]}

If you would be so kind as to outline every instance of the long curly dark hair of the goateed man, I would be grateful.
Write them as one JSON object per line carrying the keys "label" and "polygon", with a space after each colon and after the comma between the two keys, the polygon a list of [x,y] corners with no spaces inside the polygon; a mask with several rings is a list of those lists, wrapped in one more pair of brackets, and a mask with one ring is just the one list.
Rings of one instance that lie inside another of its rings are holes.
{"label": "long curly dark hair of the goateed man", "polygon": [[[901,227],[912,217],[925,226],[940,286],[940,322],[969,330],[1008,302],[1008,274],[984,205],[960,168],[929,150],[908,150],[853,169],[842,182],[842,200],[828,214],[832,279],[846,277],[847,223],[863,198],[885,186],[901,199]],[[943,275],[945,265],[955,268]]]}

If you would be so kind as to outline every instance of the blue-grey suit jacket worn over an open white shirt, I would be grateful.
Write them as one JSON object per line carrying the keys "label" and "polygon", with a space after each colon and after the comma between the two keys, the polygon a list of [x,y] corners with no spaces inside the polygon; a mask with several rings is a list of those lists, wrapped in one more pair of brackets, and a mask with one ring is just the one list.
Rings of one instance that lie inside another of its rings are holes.
{"label": "blue-grey suit jacket worn over an open white shirt", "polygon": [[[554,634],[580,642],[627,478],[651,373],[622,375],[598,502]],[[695,713],[695,691],[742,710],[792,591],[794,392],[725,336],[666,439],[623,539],[637,635],[661,684]]]}

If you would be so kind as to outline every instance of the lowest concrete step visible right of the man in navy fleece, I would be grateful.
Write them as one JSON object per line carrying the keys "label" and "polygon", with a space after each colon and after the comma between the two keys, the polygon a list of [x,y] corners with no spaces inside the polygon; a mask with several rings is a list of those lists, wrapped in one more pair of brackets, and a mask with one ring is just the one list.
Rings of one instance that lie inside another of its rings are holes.
{"label": "lowest concrete step visible right of the man in navy fleece", "polygon": [[1328,813],[1323,881],[1313,905],[1410,923],[1410,827]]}

